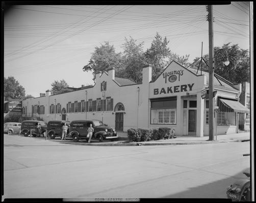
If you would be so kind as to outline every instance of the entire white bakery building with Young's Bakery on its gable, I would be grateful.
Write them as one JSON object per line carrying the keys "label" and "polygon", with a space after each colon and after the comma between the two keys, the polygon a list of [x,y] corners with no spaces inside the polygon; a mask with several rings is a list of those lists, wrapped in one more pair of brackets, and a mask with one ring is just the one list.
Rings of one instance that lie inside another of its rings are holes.
{"label": "entire white bakery building with Young's Bakery on its gable", "polygon": [[[129,128],[170,127],[180,136],[209,134],[207,72],[186,68],[172,61],[156,81],[151,66],[143,67],[142,83],[115,77],[115,69],[96,74],[94,86],[50,95],[50,91],[22,101],[22,115],[49,120],[98,119],[117,131]],[[214,134],[238,132],[239,115],[249,109],[239,103],[241,84],[234,85],[215,74]],[[218,118],[218,119],[216,119]]]}

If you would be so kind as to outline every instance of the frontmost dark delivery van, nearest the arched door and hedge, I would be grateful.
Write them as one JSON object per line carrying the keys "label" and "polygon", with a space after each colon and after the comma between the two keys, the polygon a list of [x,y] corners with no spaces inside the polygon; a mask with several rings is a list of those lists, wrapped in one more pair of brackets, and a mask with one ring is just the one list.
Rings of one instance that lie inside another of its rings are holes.
{"label": "frontmost dark delivery van, nearest the arched door and hedge", "polygon": [[118,135],[115,132],[115,129],[112,129],[110,126],[104,124],[100,120],[74,120],[70,123],[70,132],[67,134],[67,137],[73,139],[74,142],[79,140],[89,140],[87,138],[87,129],[92,124],[94,132],[92,134],[92,139],[98,139],[99,142],[103,140],[115,140],[118,139]]}

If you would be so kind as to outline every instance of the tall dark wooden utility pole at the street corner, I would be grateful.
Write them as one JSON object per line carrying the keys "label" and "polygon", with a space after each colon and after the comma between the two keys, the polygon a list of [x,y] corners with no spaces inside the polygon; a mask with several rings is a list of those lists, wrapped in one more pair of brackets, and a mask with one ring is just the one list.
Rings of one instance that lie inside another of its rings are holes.
{"label": "tall dark wooden utility pole at the street corner", "polygon": [[214,140],[213,135],[213,57],[214,57],[214,45],[213,45],[213,6],[208,5],[208,22],[209,22],[209,141]]}

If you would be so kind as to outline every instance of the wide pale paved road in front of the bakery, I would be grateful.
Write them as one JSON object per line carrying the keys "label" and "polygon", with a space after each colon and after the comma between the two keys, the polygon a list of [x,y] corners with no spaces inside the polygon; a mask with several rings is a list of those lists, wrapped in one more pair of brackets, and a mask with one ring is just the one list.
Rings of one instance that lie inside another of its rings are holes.
{"label": "wide pale paved road in front of the bakery", "polygon": [[249,152],[249,142],[86,146],[5,134],[2,199],[226,198]]}

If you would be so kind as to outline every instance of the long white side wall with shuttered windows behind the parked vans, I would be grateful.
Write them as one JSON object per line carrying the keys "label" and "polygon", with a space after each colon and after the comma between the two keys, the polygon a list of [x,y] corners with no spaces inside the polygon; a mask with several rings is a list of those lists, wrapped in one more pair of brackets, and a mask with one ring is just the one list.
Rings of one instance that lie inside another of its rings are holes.
{"label": "long white side wall with shuttered windows behind the parked vans", "polygon": [[[141,87],[141,85],[128,85],[120,87],[116,82],[114,82],[110,75],[103,72],[102,74],[98,74],[96,76],[96,83],[94,87],[88,89],[82,89],[78,91],[67,92],[63,94],[57,95],[49,95],[37,98],[29,98],[22,101],[22,107],[28,105],[27,112],[32,112],[32,105],[38,105],[38,101],[40,101],[40,105],[45,106],[45,114],[40,115],[45,122],[49,120],[55,120],[55,114],[49,114],[49,106],[54,104],[56,99],[56,105],[59,103],[61,105],[61,109],[65,108],[67,110],[67,103],[71,101],[80,102],[81,100],[86,100],[86,91],[87,91],[87,101],[88,99],[95,100],[96,98],[103,99],[102,93],[100,91],[100,83],[103,81],[107,81],[107,90],[106,97],[111,96],[113,98],[113,111],[105,111],[104,112],[104,123],[110,125],[111,127],[115,127],[115,114],[114,112],[115,105],[117,103],[122,103],[124,105],[125,114],[123,115],[123,129],[126,131],[131,127],[138,127],[138,91],[137,87]],[[102,120],[103,112],[78,112],[78,113],[67,113],[66,120],[79,120],[79,119],[98,119]],[[56,113],[56,120],[62,120],[62,115]]]}

